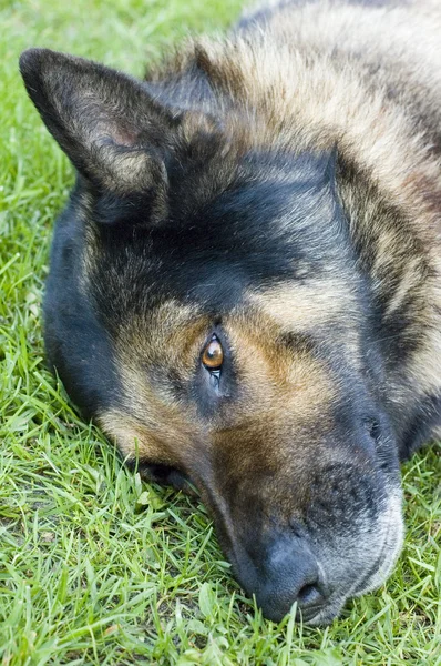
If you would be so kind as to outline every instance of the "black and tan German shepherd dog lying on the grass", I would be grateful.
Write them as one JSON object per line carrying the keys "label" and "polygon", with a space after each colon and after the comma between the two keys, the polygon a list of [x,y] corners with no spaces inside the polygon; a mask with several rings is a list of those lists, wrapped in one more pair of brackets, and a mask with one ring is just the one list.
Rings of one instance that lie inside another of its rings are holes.
{"label": "black and tan German shepherd dog lying on the grass", "polygon": [[330,623],[392,571],[399,463],[441,424],[441,3],[273,3],[144,81],[20,67],[78,171],[50,364],[199,490],[266,617]]}

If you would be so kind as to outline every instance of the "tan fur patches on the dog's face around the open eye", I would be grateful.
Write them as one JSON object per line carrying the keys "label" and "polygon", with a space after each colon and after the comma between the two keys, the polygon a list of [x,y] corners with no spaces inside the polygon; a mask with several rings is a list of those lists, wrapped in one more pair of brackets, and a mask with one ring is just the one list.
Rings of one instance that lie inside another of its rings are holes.
{"label": "tan fur patches on the dog's face around the open eye", "polygon": [[[137,335],[136,325],[127,326],[116,342],[123,408],[105,411],[98,421],[124,456],[191,468],[201,456],[201,444],[209,448],[217,417],[202,420],[187,403],[177,402],[165,381],[152,379],[151,367],[160,362],[163,374],[164,369],[178,369],[182,381],[189,382],[208,322],[192,307],[168,302],[153,314],[150,326],[155,326],[151,343]],[[276,323],[273,313],[269,316],[264,309],[252,306],[246,315],[233,312],[223,327],[243,387],[234,413],[222,414],[223,428],[226,423],[234,428],[256,420],[276,423],[280,410],[295,414],[295,421],[304,426],[326,420],[336,387],[319,361],[302,351],[293,357],[283,345],[275,344],[286,330],[281,321]],[[273,438],[268,440],[271,445]]]}

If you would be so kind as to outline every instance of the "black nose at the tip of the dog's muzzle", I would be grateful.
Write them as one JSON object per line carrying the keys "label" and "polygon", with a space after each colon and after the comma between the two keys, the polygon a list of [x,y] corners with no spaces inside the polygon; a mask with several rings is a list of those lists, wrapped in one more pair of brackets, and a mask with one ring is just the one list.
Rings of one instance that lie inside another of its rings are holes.
{"label": "black nose at the tip of the dog's muzzle", "polygon": [[297,602],[297,610],[309,620],[325,605],[325,582],[306,539],[281,536],[256,564],[258,581],[253,592],[268,619],[280,622]]}

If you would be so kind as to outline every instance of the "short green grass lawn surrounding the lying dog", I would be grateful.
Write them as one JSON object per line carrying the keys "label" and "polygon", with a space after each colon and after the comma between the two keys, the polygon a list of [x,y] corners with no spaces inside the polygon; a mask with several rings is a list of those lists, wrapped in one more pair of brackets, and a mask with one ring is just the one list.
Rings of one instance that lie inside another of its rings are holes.
{"label": "short green grass lawn surrounding the lying dog", "polygon": [[311,629],[264,620],[203,506],[143,485],[47,372],[41,299],[72,170],[27,100],[17,60],[45,46],[141,74],[238,0],[0,4],[0,662],[441,664],[441,456],[404,466],[407,541],[378,593]]}

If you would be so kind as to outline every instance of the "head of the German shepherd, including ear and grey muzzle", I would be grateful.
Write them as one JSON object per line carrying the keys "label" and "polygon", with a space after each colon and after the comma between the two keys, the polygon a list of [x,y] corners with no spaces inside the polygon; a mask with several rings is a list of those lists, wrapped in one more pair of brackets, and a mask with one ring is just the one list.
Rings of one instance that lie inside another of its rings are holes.
{"label": "head of the German shepherd, including ear and grey muzzle", "polygon": [[68,390],[126,458],[193,481],[266,616],[297,601],[330,622],[402,541],[334,151],[250,145],[237,110],[175,109],[80,59],[28,51],[21,69],[80,174],[47,304]]}

